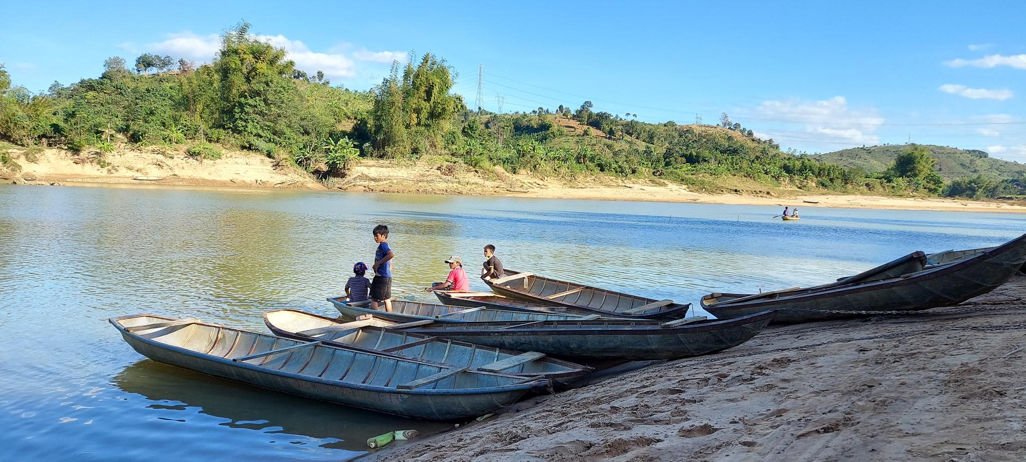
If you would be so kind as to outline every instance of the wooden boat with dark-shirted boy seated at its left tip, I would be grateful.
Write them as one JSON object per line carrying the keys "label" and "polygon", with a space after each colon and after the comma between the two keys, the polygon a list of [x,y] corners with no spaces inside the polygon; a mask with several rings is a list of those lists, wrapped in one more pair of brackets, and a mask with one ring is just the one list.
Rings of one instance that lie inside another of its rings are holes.
{"label": "wooden boat with dark-shirted boy seated at its left tip", "polygon": [[506,269],[506,277],[484,283],[499,295],[585,313],[652,320],[683,318],[690,303],[656,300],[611,290]]}

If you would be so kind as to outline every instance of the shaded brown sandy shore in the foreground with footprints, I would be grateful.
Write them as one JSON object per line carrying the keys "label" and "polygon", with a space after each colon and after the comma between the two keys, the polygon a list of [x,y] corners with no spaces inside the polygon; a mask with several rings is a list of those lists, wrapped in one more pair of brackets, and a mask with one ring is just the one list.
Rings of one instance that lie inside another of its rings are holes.
{"label": "shaded brown sandy shore in the foreground with footprints", "polygon": [[771,328],[361,460],[1020,461],[1024,296]]}

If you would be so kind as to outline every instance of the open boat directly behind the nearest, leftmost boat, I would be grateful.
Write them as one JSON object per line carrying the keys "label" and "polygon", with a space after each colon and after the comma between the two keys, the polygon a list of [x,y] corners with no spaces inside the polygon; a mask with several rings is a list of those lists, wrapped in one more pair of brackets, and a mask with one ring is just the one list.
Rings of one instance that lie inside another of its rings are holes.
{"label": "open boat directly behind the nearest, leftmost boat", "polygon": [[[363,318],[363,317],[361,317]],[[591,368],[546,356],[544,353],[514,351],[477,345],[448,338],[432,337],[394,329],[395,323],[369,319],[353,323],[299,311],[278,309],[264,313],[264,324],[282,337],[320,341],[364,351],[394,354],[420,361],[501,372],[521,378],[540,377],[555,384],[569,385],[588,376]]]}

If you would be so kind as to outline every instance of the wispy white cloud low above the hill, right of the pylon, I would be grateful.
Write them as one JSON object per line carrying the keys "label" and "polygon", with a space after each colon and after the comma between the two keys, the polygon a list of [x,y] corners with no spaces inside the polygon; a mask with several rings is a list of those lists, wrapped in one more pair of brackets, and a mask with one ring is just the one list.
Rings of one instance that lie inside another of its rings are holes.
{"label": "wispy white cloud low above the hill, right of the pylon", "polygon": [[[819,101],[792,99],[763,101],[756,113],[775,122],[805,124],[805,131],[797,134],[782,132],[777,140],[793,138],[799,144],[813,144],[834,151],[836,143],[878,144],[879,136],[873,134],[883,123],[875,109],[849,108],[843,96]],[[773,132],[773,130],[765,130]],[[822,145],[821,145],[822,144]]]}

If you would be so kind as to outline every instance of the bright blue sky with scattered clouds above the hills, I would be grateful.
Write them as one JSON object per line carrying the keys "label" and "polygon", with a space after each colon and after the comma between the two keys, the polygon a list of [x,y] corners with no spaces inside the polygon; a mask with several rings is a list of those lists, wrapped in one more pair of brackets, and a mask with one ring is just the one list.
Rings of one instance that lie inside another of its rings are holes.
{"label": "bright blue sky with scattered clouds above the hills", "polygon": [[[8,2],[0,62],[44,90],[153,51],[209,61],[241,19],[301,69],[366,89],[430,51],[503,112],[585,99],[736,122],[810,153],[913,142],[1026,162],[1024,2]],[[16,20],[12,20],[16,18]]]}

